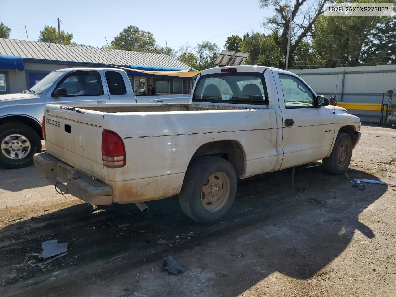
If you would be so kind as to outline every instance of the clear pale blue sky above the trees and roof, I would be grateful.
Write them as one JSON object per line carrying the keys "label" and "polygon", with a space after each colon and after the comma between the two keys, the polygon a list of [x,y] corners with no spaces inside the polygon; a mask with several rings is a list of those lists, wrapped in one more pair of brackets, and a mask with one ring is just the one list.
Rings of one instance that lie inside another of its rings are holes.
{"label": "clear pale blue sky above the trees and roof", "polygon": [[[178,50],[209,40],[223,49],[228,36],[243,36],[272,11],[257,0],[0,0],[0,22],[11,28],[10,38],[37,41],[46,25],[73,33],[73,42],[101,47],[129,25],[150,31],[160,46]],[[166,41],[165,41],[166,40]]]}

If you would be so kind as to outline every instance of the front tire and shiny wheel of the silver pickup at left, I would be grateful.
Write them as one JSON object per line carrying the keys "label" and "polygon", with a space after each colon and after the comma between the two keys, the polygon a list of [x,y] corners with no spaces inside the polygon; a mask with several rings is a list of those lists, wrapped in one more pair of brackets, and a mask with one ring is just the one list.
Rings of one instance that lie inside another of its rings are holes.
{"label": "front tire and shiny wheel of the silver pickup at left", "polygon": [[0,167],[23,168],[33,164],[33,155],[41,152],[38,133],[21,123],[0,126]]}

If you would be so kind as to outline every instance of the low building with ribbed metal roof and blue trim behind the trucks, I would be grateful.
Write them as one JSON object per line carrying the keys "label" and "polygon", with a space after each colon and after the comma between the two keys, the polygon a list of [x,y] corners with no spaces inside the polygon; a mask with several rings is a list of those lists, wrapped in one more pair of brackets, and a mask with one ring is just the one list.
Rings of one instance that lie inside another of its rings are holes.
{"label": "low building with ribbed metal roof and blue trim behind the trucks", "polygon": [[169,55],[0,38],[0,94],[30,89],[57,69],[116,66],[131,69],[127,72],[136,95],[147,94],[150,84],[158,94],[188,94],[191,91],[190,79],[134,71],[190,69]]}

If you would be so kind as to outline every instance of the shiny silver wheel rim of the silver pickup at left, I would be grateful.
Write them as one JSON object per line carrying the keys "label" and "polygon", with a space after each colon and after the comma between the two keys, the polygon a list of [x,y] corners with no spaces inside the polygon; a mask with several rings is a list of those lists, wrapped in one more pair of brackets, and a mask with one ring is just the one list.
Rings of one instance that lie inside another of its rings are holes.
{"label": "shiny silver wheel rim of the silver pickup at left", "polygon": [[1,151],[11,160],[20,160],[25,158],[30,152],[30,141],[20,134],[11,134],[1,142]]}

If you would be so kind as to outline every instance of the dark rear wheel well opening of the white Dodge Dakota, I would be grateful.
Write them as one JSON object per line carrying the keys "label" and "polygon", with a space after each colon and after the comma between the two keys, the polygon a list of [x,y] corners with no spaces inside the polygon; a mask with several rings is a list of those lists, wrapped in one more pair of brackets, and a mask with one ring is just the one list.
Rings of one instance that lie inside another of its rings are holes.
{"label": "dark rear wheel well opening of the white Dodge Dakota", "polygon": [[242,176],[245,173],[245,152],[238,141],[221,140],[205,143],[193,155],[193,157],[199,156],[223,158],[234,167],[237,176]]}

